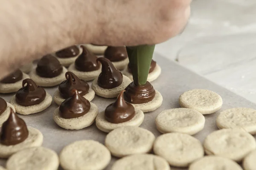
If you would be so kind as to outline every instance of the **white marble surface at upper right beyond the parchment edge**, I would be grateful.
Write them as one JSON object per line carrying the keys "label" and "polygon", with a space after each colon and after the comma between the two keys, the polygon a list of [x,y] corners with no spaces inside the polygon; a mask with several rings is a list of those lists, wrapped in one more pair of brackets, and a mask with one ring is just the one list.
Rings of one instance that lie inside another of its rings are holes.
{"label": "white marble surface at upper right beyond the parchment edge", "polygon": [[256,0],[194,0],[182,34],[155,51],[256,103]]}

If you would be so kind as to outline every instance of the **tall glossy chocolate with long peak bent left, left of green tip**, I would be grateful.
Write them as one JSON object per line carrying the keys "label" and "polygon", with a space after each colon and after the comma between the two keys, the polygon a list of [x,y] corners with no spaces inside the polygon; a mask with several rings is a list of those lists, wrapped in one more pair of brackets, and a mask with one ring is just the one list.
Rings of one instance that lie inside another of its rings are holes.
{"label": "tall glossy chocolate with long peak bent left, left of green tip", "polygon": [[102,72],[98,77],[98,85],[102,88],[115,88],[122,84],[123,76],[119,70],[116,70],[111,61],[100,57],[97,61],[102,64]]}

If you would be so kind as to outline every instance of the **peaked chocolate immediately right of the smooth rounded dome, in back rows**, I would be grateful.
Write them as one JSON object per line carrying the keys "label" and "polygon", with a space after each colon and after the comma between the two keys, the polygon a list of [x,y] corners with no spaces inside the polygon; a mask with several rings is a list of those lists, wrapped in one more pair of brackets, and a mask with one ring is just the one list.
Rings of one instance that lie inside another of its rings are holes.
{"label": "peaked chocolate immediately right of the smooth rounded dome, in back rows", "polygon": [[81,45],[83,50],[82,54],[75,61],[75,67],[79,71],[95,71],[99,70],[99,62],[97,62],[97,57],[93,53],[87,50],[83,45]]}

